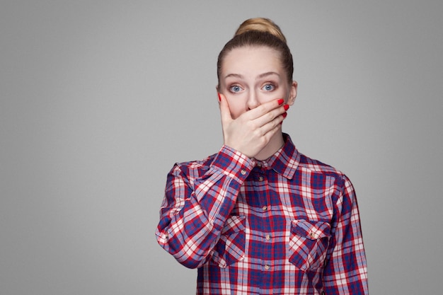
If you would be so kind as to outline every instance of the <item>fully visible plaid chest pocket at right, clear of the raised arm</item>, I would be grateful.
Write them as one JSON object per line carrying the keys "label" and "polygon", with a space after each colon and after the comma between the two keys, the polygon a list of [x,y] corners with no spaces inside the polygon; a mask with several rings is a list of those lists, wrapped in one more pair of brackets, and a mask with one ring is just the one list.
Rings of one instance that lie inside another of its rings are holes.
{"label": "fully visible plaid chest pocket at right, clear of the raised arm", "polygon": [[294,220],[289,236],[289,262],[305,272],[323,265],[330,238],[328,222]]}

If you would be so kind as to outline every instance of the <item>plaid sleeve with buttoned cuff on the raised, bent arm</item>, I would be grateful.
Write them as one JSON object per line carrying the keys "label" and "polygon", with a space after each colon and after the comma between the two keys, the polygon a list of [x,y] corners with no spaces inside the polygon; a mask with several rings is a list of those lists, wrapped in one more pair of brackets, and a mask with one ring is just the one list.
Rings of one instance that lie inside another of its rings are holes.
{"label": "plaid sleeve with buttoned cuff on the raised, bent arm", "polygon": [[229,146],[222,146],[202,175],[192,165],[176,164],[168,173],[161,204],[159,245],[186,267],[205,264],[254,165]]}

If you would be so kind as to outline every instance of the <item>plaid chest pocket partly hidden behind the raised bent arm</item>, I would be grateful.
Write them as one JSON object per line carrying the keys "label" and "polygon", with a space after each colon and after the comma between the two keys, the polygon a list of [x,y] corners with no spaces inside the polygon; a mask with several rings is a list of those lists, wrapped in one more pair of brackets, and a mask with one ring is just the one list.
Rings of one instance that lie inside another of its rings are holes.
{"label": "plaid chest pocket partly hidden behind the raised bent arm", "polygon": [[245,258],[246,216],[231,216],[226,221],[219,242],[212,253],[212,261],[226,267]]}

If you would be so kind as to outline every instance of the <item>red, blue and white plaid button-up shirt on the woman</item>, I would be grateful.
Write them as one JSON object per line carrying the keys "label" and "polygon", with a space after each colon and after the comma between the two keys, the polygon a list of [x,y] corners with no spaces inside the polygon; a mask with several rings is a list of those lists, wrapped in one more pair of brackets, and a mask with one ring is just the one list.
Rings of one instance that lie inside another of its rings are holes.
{"label": "red, blue and white plaid button-up shirt on the woman", "polygon": [[284,140],[267,161],[222,146],[168,174],[156,237],[198,267],[197,294],[368,294],[350,180]]}

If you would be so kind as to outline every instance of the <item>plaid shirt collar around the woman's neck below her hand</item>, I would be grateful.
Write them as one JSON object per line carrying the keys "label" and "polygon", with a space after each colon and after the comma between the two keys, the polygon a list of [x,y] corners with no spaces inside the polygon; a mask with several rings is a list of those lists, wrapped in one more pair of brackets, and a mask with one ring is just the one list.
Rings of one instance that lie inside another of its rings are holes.
{"label": "plaid shirt collar around the woman's neck below her hand", "polygon": [[273,169],[285,178],[292,179],[299,166],[300,154],[288,134],[283,133],[283,139],[283,146],[270,158],[263,161],[255,159],[255,161],[258,167]]}

